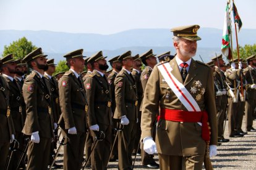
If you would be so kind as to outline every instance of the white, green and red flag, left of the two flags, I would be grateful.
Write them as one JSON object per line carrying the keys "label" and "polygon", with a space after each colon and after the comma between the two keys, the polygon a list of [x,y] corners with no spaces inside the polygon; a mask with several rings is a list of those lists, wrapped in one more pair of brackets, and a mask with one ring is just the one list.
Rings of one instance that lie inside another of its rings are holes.
{"label": "white, green and red flag, left of the two flags", "polygon": [[230,28],[230,19],[229,19],[229,3],[226,6],[225,18],[224,18],[224,26],[223,26],[223,34],[222,34],[222,45],[221,45],[221,52],[223,55],[228,57],[231,60],[231,49],[230,49],[230,39],[229,35],[231,34]]}

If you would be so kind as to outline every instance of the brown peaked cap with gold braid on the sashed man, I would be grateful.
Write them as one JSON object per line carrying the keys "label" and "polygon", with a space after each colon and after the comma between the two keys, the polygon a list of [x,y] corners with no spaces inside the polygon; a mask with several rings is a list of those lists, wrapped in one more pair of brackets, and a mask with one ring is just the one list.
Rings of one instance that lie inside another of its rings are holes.
{"label": "brown peaked cap with gold braid on the sashed man", "polygon": [[189,41],[198,41],[201,40],[201,38],[197,36],[197,31],[199,28],[199,25],[179,26],[172,28],[171,32],[173,32],[173,36],[184,38]]}

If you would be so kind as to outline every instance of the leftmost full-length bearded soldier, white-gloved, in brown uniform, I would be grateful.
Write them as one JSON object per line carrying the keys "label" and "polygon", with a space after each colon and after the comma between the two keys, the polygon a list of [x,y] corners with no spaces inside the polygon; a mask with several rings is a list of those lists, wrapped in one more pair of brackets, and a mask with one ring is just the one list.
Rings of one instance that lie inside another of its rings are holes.
{"label": "leftmost full-length bearded soldier, white-gloved, in brown uniform", "polygon": [[49,163],[47,158],[54,137],[51,92],[49,84],[43,78],[44,71],[48,69],[46,56],[41,48],[38,48],[23,59],[33,70],[22,87],[27,112],[22,132],[31,136],[27,169],[47,169]]}

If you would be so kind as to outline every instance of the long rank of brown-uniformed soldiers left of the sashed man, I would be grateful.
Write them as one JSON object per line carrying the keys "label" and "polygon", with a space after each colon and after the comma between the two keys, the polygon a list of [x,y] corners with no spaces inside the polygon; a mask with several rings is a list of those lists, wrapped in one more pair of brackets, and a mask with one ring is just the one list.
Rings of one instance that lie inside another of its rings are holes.
{"label": "long rank of brown-uniformed soldiers left of the sashed man", "polygon": [[[0,60],[0,169],[18,168],[22,152],[27,152],[28,169],[47,169],[53,161],[50,157],[59,126],[67,141],[64,169],[81,168],[84,148],[87,158],[92,155],[87,168],[106,169],[110,148],[110,161],[119,160],[119,169],[131,168],[132,153],[137,153],[140,144],[140,103],[156,57],[152,50],[134,57],[128,51],[109,60],[113,71],[106,76],[103,53],[84,60],[82,52],[79,49],[64,55],[70,70],[55,78],[54,59],[47,60],[41,48],[23,60],[14,60],[12,54]],[[162,61],[172,57],[170,52],[158,56]],[[146,68],[141,73],[142,62]],[[85,65],[87,73],[82,77]],[[32,69],[30,75],[27,66]],[[116,145],[114,138],[118,139]],[[9,151],[10,144],[15,152]],[[144,166],[159,168],[153,155],[142,155]],[[24,159],[19,168],[25,168]]]}

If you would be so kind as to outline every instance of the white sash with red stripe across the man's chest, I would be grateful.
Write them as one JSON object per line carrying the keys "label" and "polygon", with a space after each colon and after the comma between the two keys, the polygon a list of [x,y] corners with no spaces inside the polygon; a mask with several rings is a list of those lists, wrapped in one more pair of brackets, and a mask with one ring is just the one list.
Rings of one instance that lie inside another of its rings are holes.
{"label": "white sash with red stripe across the man's chest", "polygon": [[192,97],[186,87],[173,76],[171,73],[173,68],[171,68],[169,63],[158,65],[158,70],[160,70],[166,83],[188,111],[201,111],[194,97]]}

